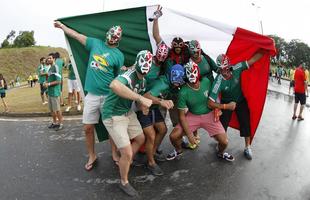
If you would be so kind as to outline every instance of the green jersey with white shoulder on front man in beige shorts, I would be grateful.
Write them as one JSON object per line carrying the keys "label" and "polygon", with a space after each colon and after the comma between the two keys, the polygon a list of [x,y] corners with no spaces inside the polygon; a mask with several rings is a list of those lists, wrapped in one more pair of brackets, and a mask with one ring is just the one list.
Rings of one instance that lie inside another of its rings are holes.
{"label": "green jersey with white shoulder on front man in beige shorts", "polygon": [[[139,79],[135,69],[129,69],[116,77],[116,80],[138,94],[144,94],[145,92],[145,79]],[[132,102],[132,100],[122,98],[110,90],[101,109],[102,119],[109,119],[113,116],[125,114],[130,110]]]}

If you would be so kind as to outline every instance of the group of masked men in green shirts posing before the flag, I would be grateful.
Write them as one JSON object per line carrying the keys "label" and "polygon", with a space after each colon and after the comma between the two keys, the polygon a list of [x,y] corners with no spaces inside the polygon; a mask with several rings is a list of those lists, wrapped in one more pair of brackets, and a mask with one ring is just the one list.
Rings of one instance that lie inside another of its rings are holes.
{"label": "group of masked men in green shirts posing before the flag", "polygon": [[[168,47],[159,34],[161,15],[158,9],[153,21],[156,54],[142,50],[130,67],[124,67],[124,55],[118,49],[122,37],[120,26],[111,27],[103,41],[78,33],[60,21],[54,23],[90,53],[84,86],[87,95],[83,124],[89,154],[85,169],[89,171],[97,163],[94,125],[101,115],[110,135],[112,159],[119,167],[119,186],[130,196],[136,196],[137,191],[130,185],[128,173],[141,145],[147,155],[147,168],[154,175],[162,175],[164,172],[156,162],[180,157],[183,136],[187,136],[190,148],[196,148],[200,142],[197,130],[203,128],[218,142],[216,155],[233,161],[234,157],[225,152],[226,130],[233,110],[240,122],[240,135],[245,138],[244,155],[252,159],[250,114],[240,76],[264,51],[256,52],[248,61],[231,65],[224,54],[214,62],[197,40],[184,42],[176,37]],[[106,61],[105,66],[96,61],[98,55]],[[167,111],[174,125],[170,141],[175,150],[163,157],[157,149],[167,133],[164,120]]]}

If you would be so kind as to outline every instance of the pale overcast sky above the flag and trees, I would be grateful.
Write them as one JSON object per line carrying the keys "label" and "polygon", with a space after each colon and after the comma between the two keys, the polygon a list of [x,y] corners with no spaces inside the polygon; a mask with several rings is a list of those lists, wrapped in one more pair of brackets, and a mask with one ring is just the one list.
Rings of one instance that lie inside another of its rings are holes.
{"label": "pale overcast sky above the flag and trees", "polygon": [[54,19],[155,4],[255,32],[261,32],[261,21],[264,34],[287,42],[300,39],[310,46],[309,0],[1,0],[0,42],[11,30],[34,30],[37,45],[66,47]]}

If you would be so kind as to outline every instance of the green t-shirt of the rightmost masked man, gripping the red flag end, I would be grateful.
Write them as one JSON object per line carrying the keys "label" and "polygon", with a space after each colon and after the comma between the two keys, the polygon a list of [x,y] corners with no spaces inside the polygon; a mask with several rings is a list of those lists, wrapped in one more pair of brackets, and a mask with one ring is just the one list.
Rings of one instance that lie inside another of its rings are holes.
{"label": "green t-shirt of the rightmost masked man, gripping the red flag end", "polygon": [[221,74],[218,74],[211,87],[209,98],[215,101],[219,93],[221,93],[222,103],[229,103],[231,101],[239,103],[242,101],[244,96],[242,94],[240,81],[241,73],[246,69],[248,69],[248,63],[240,62],[233,66],[233,77],[231,79],[225,80]]}

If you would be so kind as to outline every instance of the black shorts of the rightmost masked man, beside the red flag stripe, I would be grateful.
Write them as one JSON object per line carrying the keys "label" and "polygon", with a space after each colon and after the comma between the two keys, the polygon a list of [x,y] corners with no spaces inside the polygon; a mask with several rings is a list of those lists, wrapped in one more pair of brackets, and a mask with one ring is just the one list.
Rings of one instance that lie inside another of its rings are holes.
{"label": "black shorts of the rightmost masked man, beside the red flag stripe", "polygon": [[[237,103],[236,105],[236,114],[240,125],[240,136],[241,137],[250,137],[250,110],[246,99]],[[222,110],[222,115],[220,117],[220,121],[227,131],[227,127],[229,125],[229,121],[231,119],[233,111],[231,110]]]}

